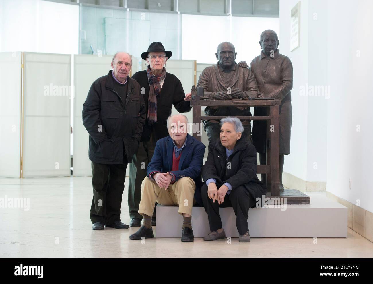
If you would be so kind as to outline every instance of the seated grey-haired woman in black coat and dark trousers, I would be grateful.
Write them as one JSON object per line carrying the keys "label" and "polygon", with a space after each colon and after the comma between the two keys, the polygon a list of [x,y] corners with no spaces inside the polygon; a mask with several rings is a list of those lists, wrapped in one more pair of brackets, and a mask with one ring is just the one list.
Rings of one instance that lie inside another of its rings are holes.
{"label": "seated grey-haired woman in black coat and dark trousers", "polygon": [[220,125],[220,140],[210,143],[209,156],[202,169],[205,183],[201,187],[201,195],[211,231],[203,239],[225,238],[219,207],[233,207],[238,240],[248,242],[249,208],[255,207],[256,198],[265,196],[267,189],[257,178],[256,150],[250,141],[245,141],[241,121],[227,117],[220,121]]}

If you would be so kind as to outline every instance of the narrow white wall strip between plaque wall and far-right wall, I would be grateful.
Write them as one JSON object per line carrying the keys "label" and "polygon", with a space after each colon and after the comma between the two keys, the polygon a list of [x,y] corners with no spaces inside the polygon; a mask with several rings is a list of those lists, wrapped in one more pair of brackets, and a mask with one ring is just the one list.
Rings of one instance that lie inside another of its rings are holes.
{"label": "narrow white wall strip between plaque wall and far-right wall", "polygon": [[[327,177],[327,104],[335,90],[327,84],[325,52],[327,46],[327,10],[325,1],[309,1],[308,6],[308,85],[307,98],[307,181],[318,182],[325,190]],[[317,40],[315,40],[317,39]],[[312,94],[314,89],[314,96]]]}

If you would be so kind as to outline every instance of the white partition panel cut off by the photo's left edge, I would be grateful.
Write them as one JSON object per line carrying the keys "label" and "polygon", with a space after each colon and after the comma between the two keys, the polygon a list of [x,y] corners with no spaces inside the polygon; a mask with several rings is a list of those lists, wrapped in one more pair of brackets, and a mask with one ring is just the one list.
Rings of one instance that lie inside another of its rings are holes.
{"label": "white partition panel cut off by the photo's left edge", "polygon": [[0,53],[0,176],[21,173],[21,52]]}

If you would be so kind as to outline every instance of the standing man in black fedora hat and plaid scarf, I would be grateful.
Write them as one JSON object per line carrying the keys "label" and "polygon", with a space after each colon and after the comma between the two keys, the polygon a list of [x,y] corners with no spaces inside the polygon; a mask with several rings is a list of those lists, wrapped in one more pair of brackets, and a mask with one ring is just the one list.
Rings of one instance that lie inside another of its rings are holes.
{"label": "standing man in black fedora hat and plaid scarf", "polygon": [[[142,215],[138,213],[141,183],[147,176],[146,169],[153,157],[157,140],[169,135],[167,118],[171,115],[172,105],[178,112],[189,112],[192,108],[191,93],[185,95],[180,80],[166,72],[164,65],[171,56],[172,52],[165,50],[163,44],[156,41],[141,54],[141,58],[148,65],[147,69],[132,75],[132,78],[140,84],[147,117],[138,151],[129,165],[128,207],[131,227],[141,226]],[[154,207],[152,225],[156,225],[156,207]]]}

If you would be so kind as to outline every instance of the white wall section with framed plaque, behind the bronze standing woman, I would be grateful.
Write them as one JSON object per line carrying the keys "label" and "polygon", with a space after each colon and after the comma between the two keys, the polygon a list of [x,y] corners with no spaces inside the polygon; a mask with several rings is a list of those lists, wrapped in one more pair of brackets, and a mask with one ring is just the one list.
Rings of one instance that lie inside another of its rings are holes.
{"label": "white wall section with framed plaque, behind the bronze standing woman", "polygon": [[[327,176],[325,1],[301,0],[300,46],[290,51],[291,9],[297,0],[280,1],[280,53],[292,61],[291,154],[284,172],[307,181],[307,191],[324,191]],[[311,184],[312,183],[312,184]]]}

